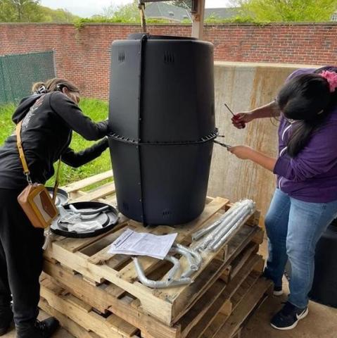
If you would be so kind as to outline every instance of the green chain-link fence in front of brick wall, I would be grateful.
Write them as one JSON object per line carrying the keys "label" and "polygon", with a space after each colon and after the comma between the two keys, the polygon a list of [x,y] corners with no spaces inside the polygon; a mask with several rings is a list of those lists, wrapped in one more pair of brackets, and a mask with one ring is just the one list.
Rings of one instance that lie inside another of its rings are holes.
{"label": "green chain-link fence in front of brick wall", "polygon": [[0,56],[0,104],[18,103],[32,84],[56,76],[53,51]]}

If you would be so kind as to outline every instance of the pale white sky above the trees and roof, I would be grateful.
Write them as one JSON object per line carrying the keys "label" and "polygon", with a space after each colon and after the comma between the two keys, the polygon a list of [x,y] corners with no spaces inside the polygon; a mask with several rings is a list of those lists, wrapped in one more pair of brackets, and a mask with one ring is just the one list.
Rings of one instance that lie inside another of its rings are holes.
{"label": "pale white sky above the trees and roof", "polygon": [[[101,14],[103,8],[113,5],[128,4],[132,0],[41,0],[40,4],[49,8],[65,8],[73,14],[82,17],[90,17],[94,14]],[[229,0],[206,0],[206,8],[226,7]]]}

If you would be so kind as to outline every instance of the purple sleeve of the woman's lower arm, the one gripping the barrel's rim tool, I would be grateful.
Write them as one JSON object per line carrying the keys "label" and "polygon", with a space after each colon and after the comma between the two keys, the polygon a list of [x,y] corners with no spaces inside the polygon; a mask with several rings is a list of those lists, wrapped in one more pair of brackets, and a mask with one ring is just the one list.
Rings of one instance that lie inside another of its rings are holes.
{"label": "purple sleeve of the woman's lower arm, the one gripping the barrel's rim tool", "polygon": [[337,120],[315,132],[310,142],[291,158],[284,155],[278,158],[274,173],[293,182],[302,182],[322,173],[327,173],[337,165]]}

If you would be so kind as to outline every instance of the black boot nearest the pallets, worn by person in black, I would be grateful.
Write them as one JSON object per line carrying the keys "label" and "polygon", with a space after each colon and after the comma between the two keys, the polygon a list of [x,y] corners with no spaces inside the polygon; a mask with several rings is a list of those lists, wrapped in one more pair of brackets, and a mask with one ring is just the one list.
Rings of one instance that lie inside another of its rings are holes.
{"label": "black boot nearest the pallets, worn by person in black", "polygon": [[16,326],[16,338],[49,338],[58,329],[58,320],[51,317],[42,322],[24,323]]}

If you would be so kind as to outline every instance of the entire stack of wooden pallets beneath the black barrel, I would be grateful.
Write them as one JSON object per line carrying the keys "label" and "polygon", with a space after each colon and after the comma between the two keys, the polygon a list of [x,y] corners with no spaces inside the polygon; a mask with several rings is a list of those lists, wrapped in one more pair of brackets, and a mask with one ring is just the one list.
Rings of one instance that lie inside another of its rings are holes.
{"label": "entire stack of wooden pallets beneath the black barrel", "polygon": [[[82,191],[111,176],[104,173],[65,189],[74,201],[115,204],[113,182]],[[137,280],[129,256],[108,253],[127,227],[153,234],[177,232],[177,242],[189,245],[192,232],[213,223],[230,206],[227,199],[209,198],[203,214],[186,225],[143,227],[122,218],[113,230],[95,238],[55,237],[45,253],[39,306],[81,338],[239,337],[246,318],[271,289],[271,283],[260,277],[264,262],[257,254],[263,241],[258,213],[220,251],[204,257],[190,285],[150,289]],[[183,266],[184,259],[180,258]],[[169,263],[155,258],[139,260],[153,280],[170,270]]]}

